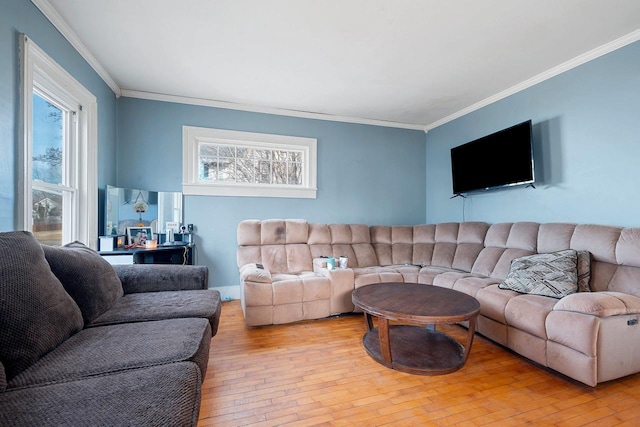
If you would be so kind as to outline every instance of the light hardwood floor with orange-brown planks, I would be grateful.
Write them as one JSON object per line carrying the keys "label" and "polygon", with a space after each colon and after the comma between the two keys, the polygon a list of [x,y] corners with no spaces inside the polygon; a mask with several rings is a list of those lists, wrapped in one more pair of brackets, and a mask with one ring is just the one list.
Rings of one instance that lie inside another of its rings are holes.
{"label": "light hardwood floor with orange-brown planks", "polygon": [[476,334],[461,370],[410,375],[371,359],[364,332],[362,315],[247,328],[240,302],[223,303],[198,425],[640,425],[640,374],[591,388]]}

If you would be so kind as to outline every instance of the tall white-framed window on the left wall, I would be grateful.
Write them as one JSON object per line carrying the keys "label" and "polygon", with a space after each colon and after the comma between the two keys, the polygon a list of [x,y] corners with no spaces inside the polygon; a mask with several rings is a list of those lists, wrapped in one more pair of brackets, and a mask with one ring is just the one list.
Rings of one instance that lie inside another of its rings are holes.
{"label": "tall white-framed window on the left wall", "polygon": [[97,245],[97,101],[26,36],[19,229],[44,244]]}

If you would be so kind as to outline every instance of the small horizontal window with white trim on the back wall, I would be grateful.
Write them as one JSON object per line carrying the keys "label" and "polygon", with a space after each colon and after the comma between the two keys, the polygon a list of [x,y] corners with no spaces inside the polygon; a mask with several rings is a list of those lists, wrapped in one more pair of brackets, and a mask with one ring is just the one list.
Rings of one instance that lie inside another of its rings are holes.
{"label": "small horizontal window with white trim on the back wall", "polygon": [[313,138],[183,126],[182,192],[316,197]]}

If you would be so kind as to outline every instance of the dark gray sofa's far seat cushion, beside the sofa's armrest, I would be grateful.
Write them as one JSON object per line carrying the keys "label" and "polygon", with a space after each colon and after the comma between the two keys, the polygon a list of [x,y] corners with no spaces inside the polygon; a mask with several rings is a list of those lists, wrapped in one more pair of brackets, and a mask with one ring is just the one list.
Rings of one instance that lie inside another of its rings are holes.
{"label": "dark gray sofa's far seat cushion, beside the sofa's armrest", "polygon": [[88,326],[200,317],[209,320],[215,335],[221,308],[220,292],[213,289],[128,294]]}

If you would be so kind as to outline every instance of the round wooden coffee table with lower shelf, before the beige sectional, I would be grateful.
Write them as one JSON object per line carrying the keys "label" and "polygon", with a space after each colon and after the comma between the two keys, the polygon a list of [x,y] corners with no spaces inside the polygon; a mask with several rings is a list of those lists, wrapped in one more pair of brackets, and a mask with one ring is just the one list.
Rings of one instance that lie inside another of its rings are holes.
{"label": "round wooden coffee table with lower shelf, before the beige sectional", "polygon": [[[352,300],[364,311],[364,347],[384,366],[411,374],[442,375],[457,371],[467,361],[480,312],[475,298],[433,285],[376,283],[354,290]],[[377,328],[372,316],[378,319]],[[390,321],[400,324],[389,325]],[[469,322],[464,347],[435,329],[437,324],[464,321]]]}

